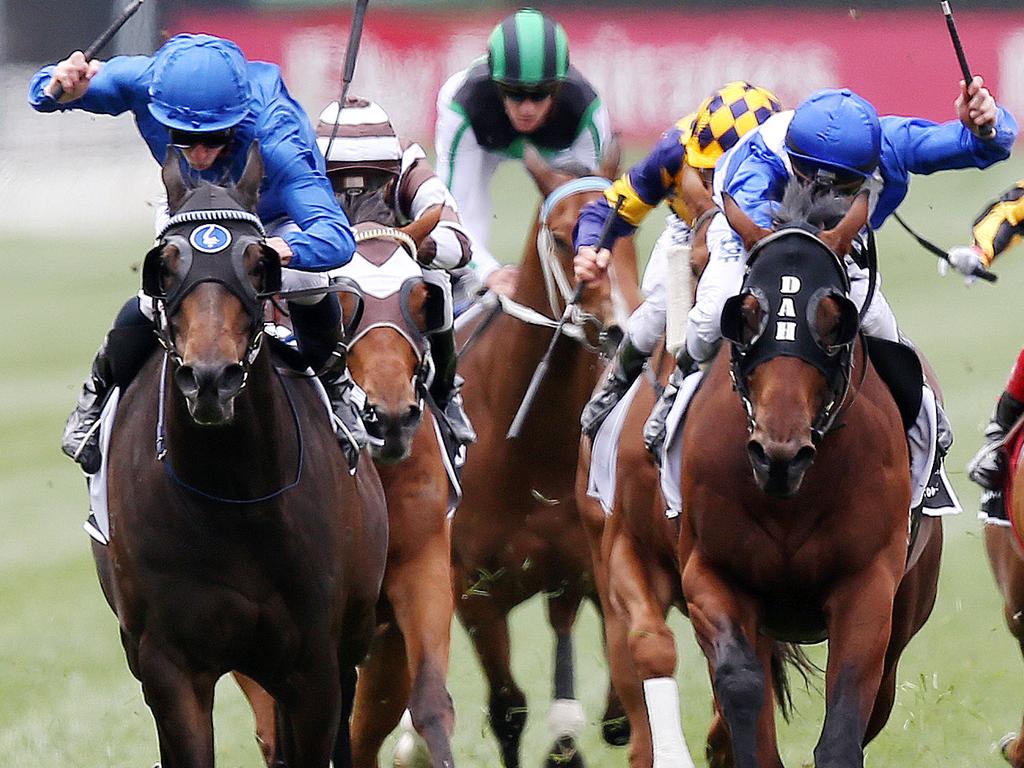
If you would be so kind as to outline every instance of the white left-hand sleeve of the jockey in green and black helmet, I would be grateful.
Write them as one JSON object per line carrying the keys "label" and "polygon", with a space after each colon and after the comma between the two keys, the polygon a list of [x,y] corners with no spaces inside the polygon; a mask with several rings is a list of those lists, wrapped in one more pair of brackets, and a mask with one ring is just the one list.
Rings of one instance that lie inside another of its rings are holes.
{"label": "white left-hand sleeve of the jockey in green and black helmet", "polygon": [[453,76],[437,94],[436,171],[459,206],[459,217],[473,245],[473,260],[469,265],[482,283],[501,266],[487,249],[487,239],[490,177],[502,158],[477,143],[469,119],[454,105],[453,96],[463,79],[462,73]]}

